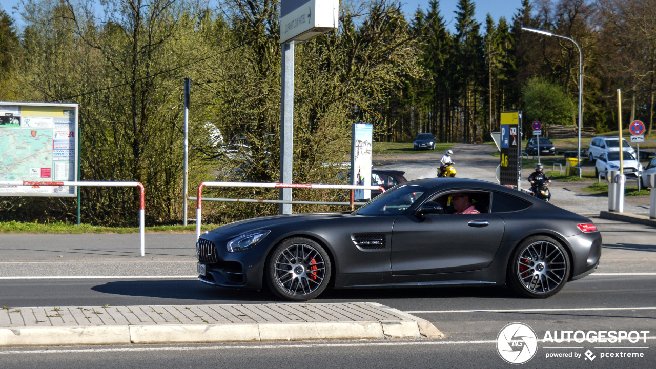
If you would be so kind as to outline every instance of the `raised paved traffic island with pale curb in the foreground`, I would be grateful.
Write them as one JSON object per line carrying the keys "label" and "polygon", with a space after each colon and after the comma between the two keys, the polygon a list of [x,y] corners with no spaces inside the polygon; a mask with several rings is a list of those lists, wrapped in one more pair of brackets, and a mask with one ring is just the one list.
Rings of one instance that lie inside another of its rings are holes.
{"label": "raised paved traffic island with pale curb in the foreground", "polygon": [[0,347],[443,337],[378,303],[3,307]]}

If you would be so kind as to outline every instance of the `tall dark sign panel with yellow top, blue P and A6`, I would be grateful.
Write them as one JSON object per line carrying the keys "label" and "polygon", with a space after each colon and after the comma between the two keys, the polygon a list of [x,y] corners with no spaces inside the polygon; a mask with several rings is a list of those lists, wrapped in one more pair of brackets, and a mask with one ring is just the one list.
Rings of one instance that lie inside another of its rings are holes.
{"label": "tall dark sign panel with yellow top, blue P and A6", "polygon": [[501,113],[501,185],[522,185],[522,112]]}

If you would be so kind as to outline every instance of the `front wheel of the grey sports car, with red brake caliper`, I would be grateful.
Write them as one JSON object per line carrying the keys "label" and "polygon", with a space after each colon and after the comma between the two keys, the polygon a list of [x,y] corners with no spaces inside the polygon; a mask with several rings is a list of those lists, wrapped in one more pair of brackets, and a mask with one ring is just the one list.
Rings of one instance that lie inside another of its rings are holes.
{"label": "front wheel of the grey sports car, with red brake caliper", "polygon": [[308,238],[288,238],[274,248],[266,265],[270,290],[287,301],[308,301],[325,290],[331,278],[328,254]]}

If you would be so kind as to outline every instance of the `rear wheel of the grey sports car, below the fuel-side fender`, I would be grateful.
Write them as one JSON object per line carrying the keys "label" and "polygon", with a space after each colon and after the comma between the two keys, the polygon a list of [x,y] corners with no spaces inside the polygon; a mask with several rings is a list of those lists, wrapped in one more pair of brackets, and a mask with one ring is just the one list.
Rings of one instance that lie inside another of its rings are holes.
{"label": "rear wheel of the grey sports car, below the fuel-side fender", "polygon": [[569,256],[549,236],[531,236],[512,253],[506,283],[518,295],[544,299],[562,290],[569,278]]}

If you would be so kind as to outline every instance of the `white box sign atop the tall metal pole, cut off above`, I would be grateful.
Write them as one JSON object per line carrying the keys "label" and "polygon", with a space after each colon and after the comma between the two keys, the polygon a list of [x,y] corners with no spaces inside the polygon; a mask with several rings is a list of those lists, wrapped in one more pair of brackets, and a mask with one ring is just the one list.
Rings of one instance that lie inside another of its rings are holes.
{"label": "white box sign atop the tall metal pole, cut off above", "polygon": [[307,41],[339,26],[339,0],[281,0],[280,42]]}

